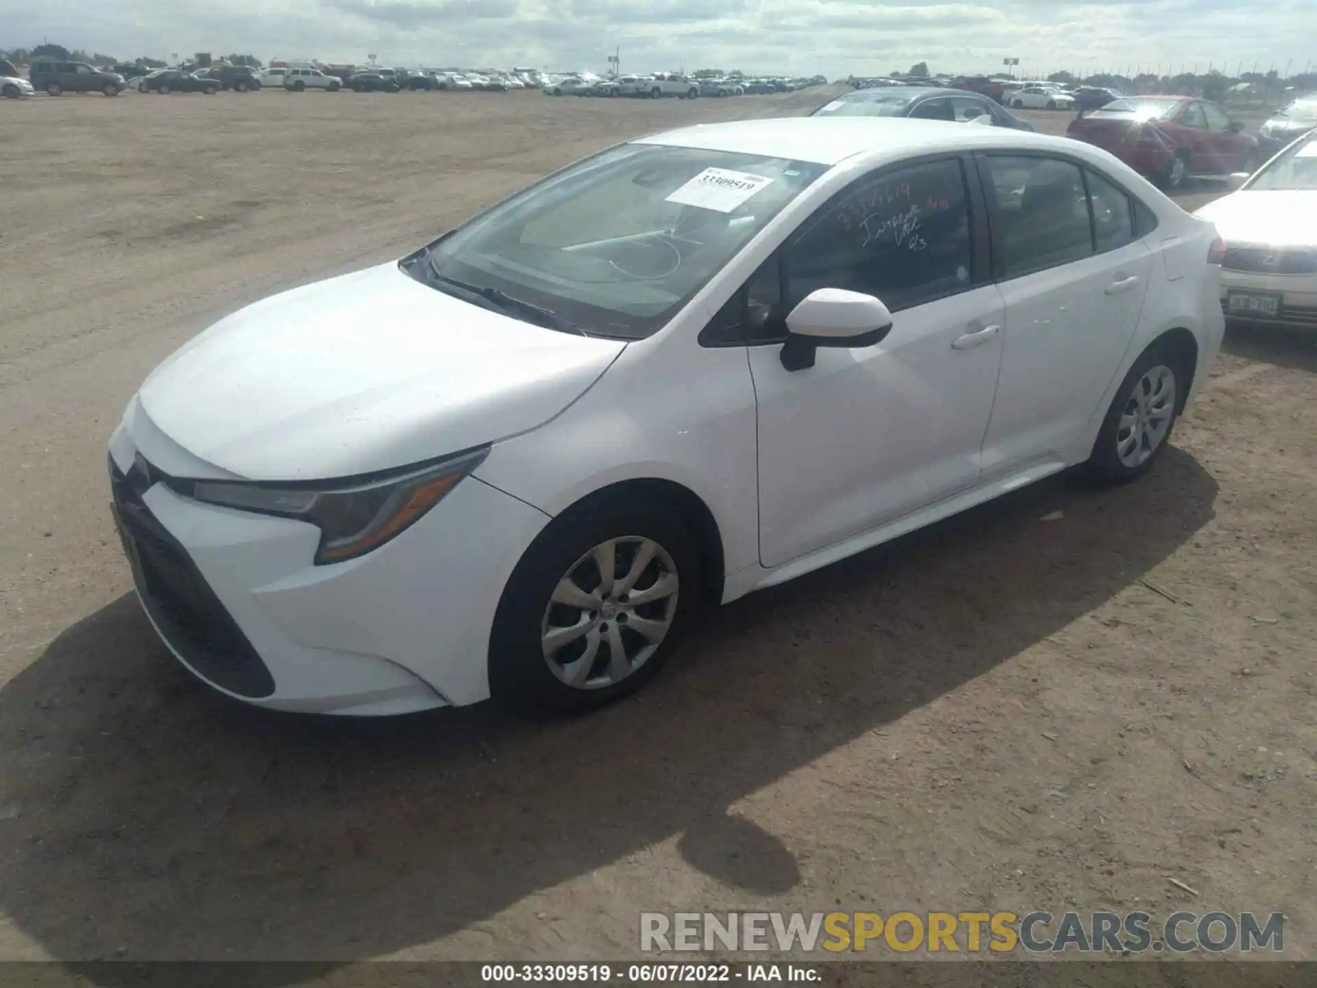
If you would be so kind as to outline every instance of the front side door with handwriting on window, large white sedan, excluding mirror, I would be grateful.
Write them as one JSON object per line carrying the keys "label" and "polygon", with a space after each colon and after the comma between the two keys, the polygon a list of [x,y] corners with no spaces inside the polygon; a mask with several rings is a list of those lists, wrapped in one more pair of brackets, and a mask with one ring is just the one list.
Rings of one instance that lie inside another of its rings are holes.
{"label": "front side door with handwriting on window, large white sedan, excluding mirror", "polygon": [[[861,178],[747,288],[759,420],[760,559],[777,566],[973,486],[1001,361],[972,162]],[[782,315],[817,288],[876,295],[890,333],[782,366]]]}

